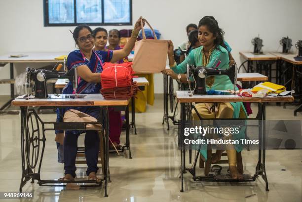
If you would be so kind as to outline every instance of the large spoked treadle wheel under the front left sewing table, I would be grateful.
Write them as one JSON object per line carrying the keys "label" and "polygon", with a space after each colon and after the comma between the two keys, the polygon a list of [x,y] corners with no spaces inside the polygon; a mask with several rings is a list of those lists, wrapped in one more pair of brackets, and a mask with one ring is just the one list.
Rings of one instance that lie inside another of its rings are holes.
{"label": "large spoked treadle wheel under the front left sewing table", "polygon": [[37,166],[40,152],[40,128],[38,118],[33,112],[27,115],[25,132],[25,157],[28,166],[34,169]]}

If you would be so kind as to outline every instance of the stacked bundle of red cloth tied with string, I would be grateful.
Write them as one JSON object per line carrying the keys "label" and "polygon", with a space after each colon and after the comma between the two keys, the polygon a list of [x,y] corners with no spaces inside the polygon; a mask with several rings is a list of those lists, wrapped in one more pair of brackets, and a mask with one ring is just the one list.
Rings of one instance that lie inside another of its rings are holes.
{"label": "stacked bundle of red cloth tied with string", "polygon": [[129,99],[137,94],[132,62],[113,64],[106,62],[101,73],[101,93],[105,99]]}

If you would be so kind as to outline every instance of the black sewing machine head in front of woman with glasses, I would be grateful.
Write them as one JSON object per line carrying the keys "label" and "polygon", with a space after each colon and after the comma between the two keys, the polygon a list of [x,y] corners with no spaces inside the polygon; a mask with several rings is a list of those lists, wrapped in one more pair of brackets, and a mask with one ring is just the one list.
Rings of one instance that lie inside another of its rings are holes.
{"label": "black sewing machine head in front of woman with glasses", "polygon": [[26,80],[27,84],[31,81],[35,81],[35,97],[47,98],[46,81],[49,79],[69,79],[74,85],[74,89],[77,88],[77,74],[76,68],[71,69],[69,72],[58,72],[41,70],[35,68],[26,68]]}

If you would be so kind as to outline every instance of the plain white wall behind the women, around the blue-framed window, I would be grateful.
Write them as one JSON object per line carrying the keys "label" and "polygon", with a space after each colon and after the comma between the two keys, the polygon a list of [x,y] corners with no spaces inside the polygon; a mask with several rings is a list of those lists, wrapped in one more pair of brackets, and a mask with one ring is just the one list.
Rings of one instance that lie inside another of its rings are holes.
{"label": "plain white wall behind the women, around the blue-framed window", "polygon": [[[198,24],[203,16],[213,15],[224,29],[225,39],[240,64],[239,51],[252,51],[251,39],[258,34],[264,40],[264,51],[276,51],[284,36],[293,42],[302,40],[301,8],[302,0],[133,0],[133,19],[142,15],[161,32],[161,39],[172,40],[177,45],[187,38],[185,27],[189,23]],[[75,48],[69,32],[74,27],[43,26],[42,0],[0,0],[0,27],[0,54]],[[109,30],[113,26],[105,28]],[[17,65],[22,67],[25,65]],[[9,78],[8,65],[0,67],[0,79],[4,78]],[[162,75],[155,75],[155,93],[163,92],[162,83]],[[9,85],[1,84],[0,95],[9,92]]]}

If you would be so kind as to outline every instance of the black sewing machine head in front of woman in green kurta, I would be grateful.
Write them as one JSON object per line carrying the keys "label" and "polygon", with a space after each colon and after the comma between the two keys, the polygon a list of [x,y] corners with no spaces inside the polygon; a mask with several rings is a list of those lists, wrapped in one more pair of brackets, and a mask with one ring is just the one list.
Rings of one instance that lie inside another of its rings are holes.
{"label": "black sewing machine head in front of woman in green kurta", "polygon": [[[206,77],[211,75],[227,75],[230,81],[234,84],[234,90],[237,82],[237,66],[236,64],[231,65],[226,70],[220,70],[217,68],[205,68],[202,66],[190,66],[189,76],[193,76],[195,81],[194,95],[205,95],[206,94]],[[189,78],[188,76],[188,78]]]}

